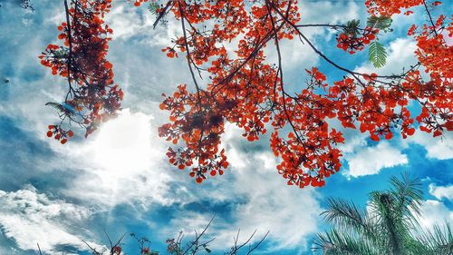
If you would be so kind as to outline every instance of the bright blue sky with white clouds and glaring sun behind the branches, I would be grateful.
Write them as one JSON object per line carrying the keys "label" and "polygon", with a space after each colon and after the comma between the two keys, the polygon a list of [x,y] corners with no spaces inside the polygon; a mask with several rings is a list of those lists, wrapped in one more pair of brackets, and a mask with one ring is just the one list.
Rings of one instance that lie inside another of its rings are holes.
{"label": "bright blue sky with white clouds and glaring sun behind the branches", "polygon": [[[366,135],[342,130],[346,142],[340,146],[341,172],[328,178],[323,188],[301,190],[286,186],[275,171],[278,159],[269,149],[267,135],[247,142],[228,124],[222,137],[228,171],[196,184],[188,172],[167,162],[169,144],[157,135],[159,125],[169,118],[159,110],[161,93],[190,83],[184,59],[169,59],[160,51],[178,34],[178,25],[169,21],[153,30],[155,16],[126,1],[114,0],[106,17],[114,31],[107,58],[125,92],[119,116],[88,139],[79,134],[64,145],[48,139],[46,127],[58,116],[44,103],[61,101],[66,83],[44,68],[37,56],[47,44],[57,42],[63,2],[32,0],[34,12],[18,3],[0,0],[0,254],[37,254],[36,243],[46,254],[62,250],[88,254],[82,240],[101,249],[108,243],[105,233],[117,240],[130,232],[148,237],[151,248],[165,251],[167,238],[183,230],[189,239],[214,215],[207,234],[216,237],[212,250],[228,250],[237,230],[239,240],[256,230],[254,240],[269,231],[256,254],[310,254],[314,235],[329,228],[319,216],[328,198],[354,201],[364,208],[370,191],[388,188],[390,176],[402,172],[422,180],[423,226],[453,221],[451,133],[432,138],[416,132],[406,140],[395,136],[372,142]],[[360,1],[299,5],[306,24],[366,20]],[[442,8],[447,14],[452,11],[448,4]],[[413,17],[425,18],[420,9]],[[393,33],[381,36],[389,57],[380,74],[416,61],[415,43],[406,36],[411,18],[395,16]],[[373,71],[366,52],[351,57],[337,49],[332,31],[304,33],[334,61],[353,70]],[[306,44],[287,42],[282,47],[292,88],[304,83],[304,69],[312,66],[318,66],[329,82],[341,79],[343,74]],[[275,52],[267,55],[269,61],[275,60]],[[412,109],[419,111],[416,105]],[[124,242],[136,248],[131,238]]]}

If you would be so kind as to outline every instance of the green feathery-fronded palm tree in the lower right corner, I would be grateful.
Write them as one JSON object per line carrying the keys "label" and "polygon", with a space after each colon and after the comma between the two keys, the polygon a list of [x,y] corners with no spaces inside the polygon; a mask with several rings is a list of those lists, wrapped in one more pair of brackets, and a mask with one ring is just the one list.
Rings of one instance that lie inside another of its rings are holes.
{"label": "green feathery-fronded palm tree in the lower right corner", "polygon": [[319,233],[312,250],[324,255],[453,255],[453,234],[444,227],[419,225],[421,181],[403,174],[390,178],[390,190],[372,191],[364,210],[329,199],[324,220],[333,229]]}

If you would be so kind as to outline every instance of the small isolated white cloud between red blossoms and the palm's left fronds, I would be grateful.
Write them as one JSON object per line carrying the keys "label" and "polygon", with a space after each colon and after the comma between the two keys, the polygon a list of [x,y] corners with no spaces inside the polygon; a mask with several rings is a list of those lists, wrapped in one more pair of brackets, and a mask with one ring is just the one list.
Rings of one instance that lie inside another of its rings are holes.
{"label": "small isolated white cloud between red blossoms and the palm's left fronds", "polygon": [[380,142],[376,147],[365,147],[361,151],[347,156],[349,163],[348,176],[359,177],[376,174],[383,168],[408,163],[408,158],[389,142]]}

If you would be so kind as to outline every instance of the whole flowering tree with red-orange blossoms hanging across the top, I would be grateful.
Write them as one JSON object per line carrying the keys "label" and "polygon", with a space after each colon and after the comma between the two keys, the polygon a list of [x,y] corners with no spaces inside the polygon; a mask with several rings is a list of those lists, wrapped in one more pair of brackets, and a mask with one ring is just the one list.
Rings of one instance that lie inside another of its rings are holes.
{"label": "whole flowering tree with red-orange blossoms hanging across the top", "polygon": [[[135,0],[134,5],[145,2]],[[111,0],[64,3],[66,21],[58,27],[63,45],[49,44],[40,56],[42,64],[68,82],[64,102],[49,104],[58,109],[62,121],[50,125],[47,135],[62,143],[73,134],[65,127],[68,123],[79,124],[87,136],[114,117],[123,94],[112,80],[112,64],[105,59],[112,30],[103,17]],[[375,142],[391,139],[396,132],[406,138],[416,129],[435,137],[451,131],[453,47],[446,38],[453,36],[453,25],[445,15],[431,15],[440,2],[366,0],[365,5],[370,17],[361,26],[357,20],[304,24],[294,0],[152,1],[154,26],[169,18],[180,23],[182,35],[162,52],[170,58],[185,57],[193,83],[191,89],[179,84],[175,93],[163,95],[160,104],[170,114],[169,123],[159,128],[159,136],[173,143],[167,152],[169,162],[179,169],[190,168],[189,175],[202,182],[227,169],[220,144],[226,122],[242,128],[250,142],[270,128],[270,146],[281,159],[277,171],[287,183],[300,188],[323,186],[324,178],[341,168],[337,144],[344,138],[330,126],[332,119],[344,128],[359,127]],[[397,74],[354,72],[323,54],[304,34],[305,27],[332,29],[338,33],[337,47],[350,54],[369,45],[371,63],[379,67],[386,56],[379,37],[391,32],[391,16],[418,5],[429,17],[426,24],[420,21],[408,31],[417,41],[419,61]],[[346,76],[326,83],[317,67],[307,67],[306,84],[291,93],[284,82],[280,44],[294,38]],[[228,51],[226,44],[234,42],[235,51]],[[266,61],[266,47],[275,50],[277,63]],[[199,83],[204,73],[209,76],[207,85]],[[415,118],[410,102],[421,108]]]}

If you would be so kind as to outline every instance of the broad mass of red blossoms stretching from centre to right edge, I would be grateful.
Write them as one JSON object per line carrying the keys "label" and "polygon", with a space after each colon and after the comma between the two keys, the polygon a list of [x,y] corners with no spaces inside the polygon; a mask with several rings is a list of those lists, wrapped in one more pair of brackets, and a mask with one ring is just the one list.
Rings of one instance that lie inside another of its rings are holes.
{"label": "broad mass of red blossoms stretching from centre to right edge", "polygon": [[[329,119],[336,118],[345,128],[369,132],[376,142],[391,139],[395,132],[403,138],[412,135],[417,127],[415,120],[421,131],[433,132],[434,136],[452,129],[452,70],[451,64],[441,61],[448,59],[446,54],[451,55],[451,46],[441,40],[442,35],[436,42],[431,40],[431,45],[426,44],[429,48],[419,46],[419,51],[424,51],[420,62],[428,66],[431,77],[428,82],[418,75],[420,64],[400,75],[350,71],[350,76],[333,84],[326,83],[325,75],[313,68],[307,71],[311,78],[306,88],[290,94],[284,88],[281,64],[265,62],[264,46],[274,44],[281,57],[279,41],[294,35],[304,40],[297,29],[300,15],[295,1],[251,1],[250,11],[245,1],[163,2],[161,12],[173,12],[184,31],[174,40],[175,45],[163,52],[170,58],[178,52],[186,54],[191,71],[207,70],[211,79],[206,88],[194,79],[193,93],[188,92],[187,85],[179,85],[173,95],[164,95],[160,105],[170,112],[170,123],[159,128],[159,135],[176,147],[169,148],[169,161],[179,169],[191,167],[190,176],[197,182],[205,180],[207,172],[214,176],[223,172],[224,164],[227,166],[220,149],[226,122],[242,128],[243,136],[251,142],[272,127],[270,145],[282,160],[277,170],[289,185],[301,188],[323,186],[325,177],[340,170],[342,152],[336,144],[344,138],[342,132],[329,126]],[[390,16],[402,7],[421,5],[420,1],[412,2],[373,1],[376,5],[367,5],[373,15]],[[209,26],[207,21],[212,16],[218,18]],[[203,31],[197,29],[200,23]],[[432,29],[427,27],[427,31]],[[338,46],[353,54],[379,33],[374,27],[360,31],[340,34]],[[239,36],[233,56],[222,42]],[[317,52],[314,46],[313,50]],[[415,120],[408,109],[410,100],[422,107]]]}

